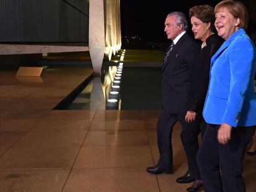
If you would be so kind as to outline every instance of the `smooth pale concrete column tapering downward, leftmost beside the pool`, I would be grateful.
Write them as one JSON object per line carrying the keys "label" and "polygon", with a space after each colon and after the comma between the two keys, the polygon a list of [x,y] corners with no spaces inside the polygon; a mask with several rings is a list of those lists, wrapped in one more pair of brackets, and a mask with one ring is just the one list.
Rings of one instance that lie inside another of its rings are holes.
{"label": "smooth pale concrete column tapering downward, leftmost beside the pool", "polygon": [[104,0],[90,0],[89,49],[95,73],[100,73],[105,50]]}

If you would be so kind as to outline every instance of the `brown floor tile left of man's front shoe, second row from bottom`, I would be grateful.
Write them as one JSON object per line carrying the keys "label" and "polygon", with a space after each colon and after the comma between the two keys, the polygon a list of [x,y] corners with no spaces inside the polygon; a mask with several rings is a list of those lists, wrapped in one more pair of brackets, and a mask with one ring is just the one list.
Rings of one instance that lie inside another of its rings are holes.
{"label": "brown floor tile left of man's front shoe, second row from bottom", "polygon": [[152,164],[148,146],[95,146],[83,147],[75,169],[85,168],[137,168]]}

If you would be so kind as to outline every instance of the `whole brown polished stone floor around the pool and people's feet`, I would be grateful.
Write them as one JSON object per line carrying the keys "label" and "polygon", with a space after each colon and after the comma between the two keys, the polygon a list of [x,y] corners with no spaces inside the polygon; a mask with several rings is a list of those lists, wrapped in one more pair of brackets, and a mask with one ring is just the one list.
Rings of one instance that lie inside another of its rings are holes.
{"label": "whole brown polished stone floor around the pool and people's feet", "polygon": [[[174,128],[173,175],[145,172],[156,163],[160,111],[53,111],[92,73],[53,68],[41,78],[0,71],[0,191],[176,192],[187,169]],[[247,191],[256,191],[256,157],[245,157]]]}

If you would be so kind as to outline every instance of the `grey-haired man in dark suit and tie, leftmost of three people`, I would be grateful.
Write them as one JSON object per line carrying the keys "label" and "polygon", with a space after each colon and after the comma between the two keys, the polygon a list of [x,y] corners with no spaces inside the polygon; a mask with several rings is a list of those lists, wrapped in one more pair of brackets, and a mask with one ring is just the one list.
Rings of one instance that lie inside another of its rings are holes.
{"label": "grey-haired man in dark suit and tie, leftmost of three people", "polygon": [[177,120],[182,125],[181,140],[186,151],[189,164],[188,172],[180,178],[178,183],[194,181],[193,172],[198,171],[197,121],[185,122],[185,115],[189,106],[190,69],[195,55],[200,51],[198,44],[186,33],[187,19],[182,12],[171,12],[165,20],[164,31],[168,40],[173,40],[164,56],[162,102],[163,109],[157,123],[158,148],[160,159],[154,167],[148,167],[147,172],[153,174],[173,173],[173,148],[171,134]]}

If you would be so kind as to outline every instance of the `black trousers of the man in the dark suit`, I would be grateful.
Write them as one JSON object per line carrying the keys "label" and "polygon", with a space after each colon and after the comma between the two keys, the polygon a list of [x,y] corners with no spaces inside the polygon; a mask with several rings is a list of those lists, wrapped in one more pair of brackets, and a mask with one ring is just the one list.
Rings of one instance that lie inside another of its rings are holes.
{"label": "black trousers of the man in the dark suit", "polygon": [[182,126],[181,141],[186,151],[189,172],[194,178],[200,178],[197,166],[198,135],[200,133],[199,119],[195,122],[185,122],[186,114],[168,114],[162,112],[157,123],[158,148],[160,159],[158,165],[166,170],[173,170],[172,133],[175,123],[179,120]]}

